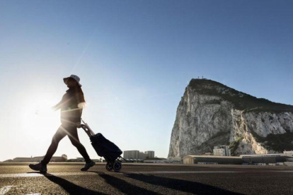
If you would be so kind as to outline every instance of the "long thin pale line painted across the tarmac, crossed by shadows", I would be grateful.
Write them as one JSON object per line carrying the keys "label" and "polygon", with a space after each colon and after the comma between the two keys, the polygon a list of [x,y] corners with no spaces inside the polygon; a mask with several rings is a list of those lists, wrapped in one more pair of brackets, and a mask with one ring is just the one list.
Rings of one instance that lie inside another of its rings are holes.
{"label": "long thin pale line painted across the tarmac, crossed by shadows", "polygon": [[[50,177],[50,176],[69,176],[69,175],[97,175],[97,174],[198,174],[198,173],[239,173],[236,171],[142,171],[142,172],[53,172],[41,174],[38,172],[32,173],[17,173],[17,174],[0,174],[0,178],[6,177]],[[1,194],[0,194],[1,195]]]}

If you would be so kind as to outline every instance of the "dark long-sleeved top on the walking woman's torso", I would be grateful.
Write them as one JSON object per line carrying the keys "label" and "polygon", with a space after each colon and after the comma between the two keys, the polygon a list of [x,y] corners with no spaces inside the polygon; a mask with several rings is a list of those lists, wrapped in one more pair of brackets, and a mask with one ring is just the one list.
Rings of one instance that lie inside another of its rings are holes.
{"label": "dark long-sleeved top on the walking woman's torso", "polygon": [[85,105],[84,93],[79,86],[69,88],[62,100],[54,106],[54,110],[60,109],[62,124],[75,126],[81,122],[82,109]]}

